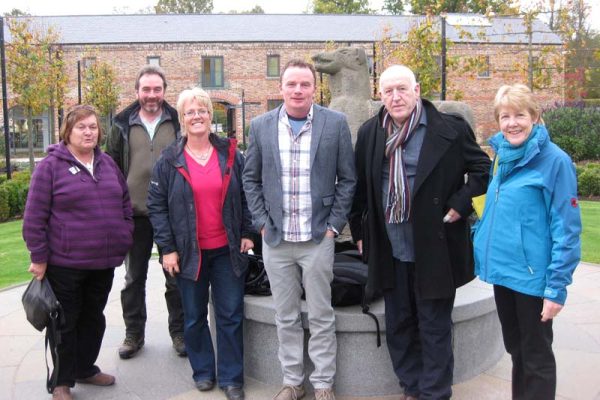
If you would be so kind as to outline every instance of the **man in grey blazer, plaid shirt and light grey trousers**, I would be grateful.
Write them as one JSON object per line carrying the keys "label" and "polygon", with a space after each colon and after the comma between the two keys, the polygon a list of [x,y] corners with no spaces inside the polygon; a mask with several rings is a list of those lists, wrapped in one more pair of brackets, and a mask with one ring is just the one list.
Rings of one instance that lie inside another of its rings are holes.
{"label": "man in grey blazer, plaid shirt and light grey trousers", "polygon": [[283,105],[250,124],[244,191],[263,238],[275,304],[283,388],[276,400],[304,396],[306,293],[316,399],[334,399],[335,315],[331,306],[334,237],[346,224],[356,185],[346,117],[313,104],[312,64],[292,60],[280,79]]}

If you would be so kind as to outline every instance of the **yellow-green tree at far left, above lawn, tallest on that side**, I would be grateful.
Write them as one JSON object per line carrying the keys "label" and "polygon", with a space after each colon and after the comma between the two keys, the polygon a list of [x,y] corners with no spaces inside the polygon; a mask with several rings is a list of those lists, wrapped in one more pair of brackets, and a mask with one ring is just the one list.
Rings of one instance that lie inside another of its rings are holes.
{"label": "yellow-green tree at far left, above lawn, tallest on that side", "polygon": [[51,107],[54,101],[62,101],[64,64],[60,50],[53,48],[58,34],[52,28],[34,28],[30,20],[23,18],[10,18],[7,22],[11,34],[11,42],[6,47],[7,82],[14,102],[25,110],[29,166],[33,171],[33,115]]}

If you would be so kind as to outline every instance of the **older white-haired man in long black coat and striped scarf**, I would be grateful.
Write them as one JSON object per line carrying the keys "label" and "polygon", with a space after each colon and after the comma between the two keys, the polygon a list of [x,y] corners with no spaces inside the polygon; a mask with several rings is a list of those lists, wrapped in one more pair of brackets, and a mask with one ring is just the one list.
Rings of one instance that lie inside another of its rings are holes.
{"label": "older white-haired man in long black coat and striped scarf", "polygon": [[448,399],[454,297],[473,279],[467,217],[490,159],[462,118],[420,98],[407,67],[386,69],[379,88],[384,106],[358,131],[350,226],[368,260],[368,291],[384,293],[403,397]]}

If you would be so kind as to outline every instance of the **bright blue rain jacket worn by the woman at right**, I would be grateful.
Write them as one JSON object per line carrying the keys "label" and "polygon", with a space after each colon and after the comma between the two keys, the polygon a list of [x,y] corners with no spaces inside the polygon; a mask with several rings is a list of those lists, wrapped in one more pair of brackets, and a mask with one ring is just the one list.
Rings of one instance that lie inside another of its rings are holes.
{"label": "bright blue rain jacket worn by the woman at right", "polygon": [[[485,282],[564,304],[581,257],[577,177],[569,156],[535,125],[537,137],[501,181],[495,173],[473,227],[475,273]],[[490,139],[498,150],[502,132]],[[493,168],[493,167],[492,167]]]}

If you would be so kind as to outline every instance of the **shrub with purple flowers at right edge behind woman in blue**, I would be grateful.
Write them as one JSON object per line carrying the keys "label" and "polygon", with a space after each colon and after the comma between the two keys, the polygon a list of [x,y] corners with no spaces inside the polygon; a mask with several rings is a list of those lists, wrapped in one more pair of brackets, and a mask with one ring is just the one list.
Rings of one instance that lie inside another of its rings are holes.
{"label": "shrub with purple flowers at right edge behind woman in blue", "polygon": [[543,117],[552,141],[573,161],[600,159],[600,109],[559,107]]}

